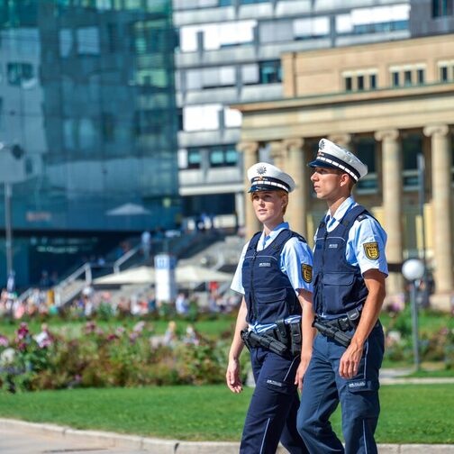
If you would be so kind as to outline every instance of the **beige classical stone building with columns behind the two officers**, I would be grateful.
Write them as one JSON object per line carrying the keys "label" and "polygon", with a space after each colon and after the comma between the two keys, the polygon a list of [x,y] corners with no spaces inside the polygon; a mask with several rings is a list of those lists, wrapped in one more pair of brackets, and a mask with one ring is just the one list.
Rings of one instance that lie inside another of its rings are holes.
{"label": "beige classical stone building with columns behind the two officers", "polygon": [[[453,279],[454,35],[445,34],[329,50],[286,53],[284,96],[236,104],[243,114],[244,168],[269,147],[277,166],[297,182],[288,210],[292,227],[311,242],[325,210],[310,184],[317,143],[328,137],[357,153],[369,168],[355,189],[388,234],[395,268],[426,247],[434,302],[448,306]],[[417,159],[425,158],[424,216],[418,203]],[[422,219],[424,227],[422,229]],[[246,204],[250,235],[258,228]],[[425,232],[425,238],[422,238]],[[403,290],[392,273],[388,294]]]}

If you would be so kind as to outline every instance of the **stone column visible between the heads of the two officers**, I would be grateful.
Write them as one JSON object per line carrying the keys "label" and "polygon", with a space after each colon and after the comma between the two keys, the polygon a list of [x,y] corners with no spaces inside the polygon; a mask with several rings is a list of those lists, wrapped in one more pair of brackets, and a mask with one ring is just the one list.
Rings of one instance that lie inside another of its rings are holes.
{"label": "stone column visible between the heads of the two officers", "polygon": [[308,169],[304,159],[304,139],[287,139],[283,142],[286,149],[286,172],[295,180],[295,190],[289,196],[286,219],[290,228],[304,236],[307,235]]}

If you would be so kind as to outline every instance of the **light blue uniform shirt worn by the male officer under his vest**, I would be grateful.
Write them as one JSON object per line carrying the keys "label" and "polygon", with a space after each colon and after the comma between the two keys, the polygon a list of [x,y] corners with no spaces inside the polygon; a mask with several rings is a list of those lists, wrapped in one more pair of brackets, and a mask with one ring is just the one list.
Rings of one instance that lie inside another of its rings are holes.
{"label": "light blue uniform shirt worn by the male officer under his vest", "polygon": [[[347,200],[340,204],[340,207],[331,216],[330,211],[325,217],[326,229],[328,232],[332,232],[342,220],[345,213],[351,210],[351,208],[358,204],[353,200],[353,197],[349,197]],[[315,239],[317,238],[317,232],[315,232]],[[362,221],[355,221],[351,226],[349,232],[349,239],[347,241],[345,249],[345,258],[350,265],[359,267],[361,274],[364,274],[368,269],[378,269],[387,276],[388,268],[386,262],[385,248],[386,248],[386,232],[383,230],[381,225],[371,216],[367,216]],[[378,258],[369,259],[364,249],[364,244],[377,242],[378,245]]]}

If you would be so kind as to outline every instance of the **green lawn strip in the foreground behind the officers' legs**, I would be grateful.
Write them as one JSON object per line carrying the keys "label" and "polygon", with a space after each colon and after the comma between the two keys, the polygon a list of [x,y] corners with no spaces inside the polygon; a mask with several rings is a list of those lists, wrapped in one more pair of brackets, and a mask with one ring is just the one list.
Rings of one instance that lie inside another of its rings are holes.
{"label": "green lawn strip in the foreground behind the officers' legs", "polygon": [[[454,443],[452,385],[382,386],[381,443]],[[239,440],[252,390],[225,386],[0,393],[0,416],[182,440]],[[340,433],[340,414],[333,426]]]}

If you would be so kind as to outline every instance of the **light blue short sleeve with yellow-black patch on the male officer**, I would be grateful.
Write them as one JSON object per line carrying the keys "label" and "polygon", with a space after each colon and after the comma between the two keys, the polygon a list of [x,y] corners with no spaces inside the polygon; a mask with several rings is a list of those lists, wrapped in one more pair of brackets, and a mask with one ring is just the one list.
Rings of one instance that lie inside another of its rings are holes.
{"label": "light blue short sleeve with yellow-black patch on the male officer", "polygon": [[356,221],[350,230],[349,243],[353,257],[347,259],[358,264],[361,274],[368,269],[378,269],[387,276],[386,232],[374,218],[368,216]]}

